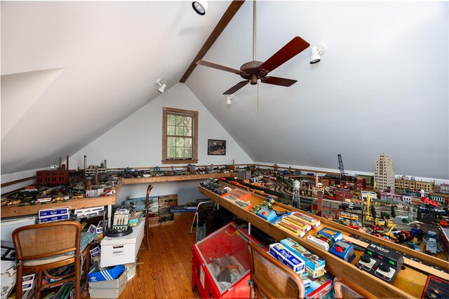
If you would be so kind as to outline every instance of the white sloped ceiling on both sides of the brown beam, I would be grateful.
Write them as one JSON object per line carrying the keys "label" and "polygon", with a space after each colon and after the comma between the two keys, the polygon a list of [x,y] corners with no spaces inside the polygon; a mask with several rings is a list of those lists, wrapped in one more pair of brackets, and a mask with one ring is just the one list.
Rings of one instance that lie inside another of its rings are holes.
{"label": "white sloped ceiling on both sides of the brown beam", "polygon": [[[200,17],[190,1],[2,1],[2,174],[76,153],[157,97],[157,79],[175,85],[229,3]],[[205,60],[252,60],[252,4]],[[336,169],[341,153],[345,169],[373,172],[387,152],[396,173],[449,179],[448,15],[447,1],[258,1],[256,60],[301,36],[326,46],[322,61],[304,50],[271,73],[297,83],[246,85],[232,106],[222,92],[236,74],[199,66],[186,84],[255,161]],[[18,104],[4,84],[31,75],[45,88],[6,125]]]}

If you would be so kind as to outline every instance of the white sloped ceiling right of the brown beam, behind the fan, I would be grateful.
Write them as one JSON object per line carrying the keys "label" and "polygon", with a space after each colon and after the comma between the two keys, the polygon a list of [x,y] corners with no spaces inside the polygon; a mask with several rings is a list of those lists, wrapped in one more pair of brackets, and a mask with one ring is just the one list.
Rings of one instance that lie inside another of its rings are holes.
{"label": "white sloped ceiling right of the brown beam, behind the fan", "polygon": [[[252,3],[245,2],[203,58],[239,68],[251,59]],[[449,179],[448,1],[257,1],[256,60],[301,36],[311,49],[258,84],[222,92],[236,74],[196,67],[187,85],[256,162],[373,172],[386,152],[397,174]],[[243,18],[241,16],[246,16]],[[267,22],[266,20],[269,20]],[[245,130],[242,130],[245,128]]]}

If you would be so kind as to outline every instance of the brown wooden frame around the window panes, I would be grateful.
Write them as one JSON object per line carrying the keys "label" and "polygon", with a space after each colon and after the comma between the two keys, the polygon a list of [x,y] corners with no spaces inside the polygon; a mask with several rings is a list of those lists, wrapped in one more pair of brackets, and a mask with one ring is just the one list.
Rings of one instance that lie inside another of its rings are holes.
{"label": "brown wooden frame around the window panes", "polygon": [[[167,115],[169,113],[182,113],[192,116],[192,159],[167,159]],[[198,111],[162,107],[162,164],[189,164],[198,163]]]}

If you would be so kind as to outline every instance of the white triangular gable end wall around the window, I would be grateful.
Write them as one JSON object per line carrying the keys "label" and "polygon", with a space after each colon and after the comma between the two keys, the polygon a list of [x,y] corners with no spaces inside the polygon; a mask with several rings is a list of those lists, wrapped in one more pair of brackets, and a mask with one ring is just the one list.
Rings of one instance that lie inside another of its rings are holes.
{"label": "white triangular gable end wall around the window", "polygon": [[[198,165],[231,164],[232,160],[236,164],[253,162],[189,88],[183,83],[177,83],[72,155],[69,158],[70,168],[82,169],[84,155],[87,155],[88,165],[100,165],[103,160],[107,160],[107,167],[110,168],[161,166],[163,106],[199,112]],[[208,139],[226,140],[226,155],[208,155]],[[196,188],[198,183],[157,183],[151,195],[178,193],[180,202],[203,198]],[[123,186],[118,200],[126,196],[145,196],[146,189],[147,186]]]}

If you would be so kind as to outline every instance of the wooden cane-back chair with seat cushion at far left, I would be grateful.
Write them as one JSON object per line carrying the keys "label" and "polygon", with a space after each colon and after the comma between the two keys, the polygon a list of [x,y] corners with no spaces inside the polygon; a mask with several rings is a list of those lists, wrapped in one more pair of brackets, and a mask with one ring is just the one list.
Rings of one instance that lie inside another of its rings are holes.
{"label": "wooden cane-back chair with seat cushion at far left", "polygon": [[[26,225],[13,232],[13,242],[17,259],[17,283],[15,298],[22,298],[22,276],[27,272],[36,272],[35,298],[41,298],[41,290],[65,281],[75,281],[76,299],[81,298],[81,256],[87,272],[89,248],[80,252],[81,224],[77,221],[58,221]],[[74,263],[74,272],[60,277],[48,274],[48,270]],[[51,278],[62,278],[42,286],[42,273]]]}

